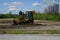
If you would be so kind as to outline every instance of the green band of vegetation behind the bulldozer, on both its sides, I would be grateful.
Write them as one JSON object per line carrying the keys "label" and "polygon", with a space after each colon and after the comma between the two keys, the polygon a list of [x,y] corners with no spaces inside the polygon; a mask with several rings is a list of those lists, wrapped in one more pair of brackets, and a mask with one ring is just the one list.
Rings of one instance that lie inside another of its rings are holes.
{"label": "green band of vegetation behind the bulldozer, on both its sides", "polygon": [[[0,18],[18,18],[18,14],[0,14]],[[59,13],[34,13],[34,20],[53,20],[60,21]]]}

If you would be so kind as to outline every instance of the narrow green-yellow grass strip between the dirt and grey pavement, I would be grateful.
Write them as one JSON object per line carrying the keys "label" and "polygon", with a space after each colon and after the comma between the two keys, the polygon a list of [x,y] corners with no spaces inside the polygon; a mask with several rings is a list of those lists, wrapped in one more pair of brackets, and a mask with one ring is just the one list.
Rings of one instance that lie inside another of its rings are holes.
{"label": "narrow green-yellow grass strip between the dirt and grey pavement", "polygon": [[0,30],[0,34],[60,34],[60,30]]}

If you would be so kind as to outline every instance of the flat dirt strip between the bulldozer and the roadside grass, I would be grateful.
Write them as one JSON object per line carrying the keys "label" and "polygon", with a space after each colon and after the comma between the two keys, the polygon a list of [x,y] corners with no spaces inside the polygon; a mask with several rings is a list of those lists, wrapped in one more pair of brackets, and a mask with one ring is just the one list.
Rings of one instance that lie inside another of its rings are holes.
{"label": "flat dirt strip between the bulldozer and the roadside grass", "polygon": [[17,29],[17,30],[60,30],[60,26],[46,26],[46,25],[0,25],[1,29]]}

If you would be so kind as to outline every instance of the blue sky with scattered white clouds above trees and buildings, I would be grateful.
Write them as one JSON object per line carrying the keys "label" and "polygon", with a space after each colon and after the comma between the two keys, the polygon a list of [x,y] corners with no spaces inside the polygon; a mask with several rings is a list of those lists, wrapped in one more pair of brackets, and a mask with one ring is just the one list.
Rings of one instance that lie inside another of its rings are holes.
{"label": "blue sky with scattered white clouds above trees and buildings", "polygon": [[20,10],[23,12],[35,10],[42,13],[48,5],[53,3],[60,5],[60,0],[0,0],[0,14],[8,12],[17,14]]}

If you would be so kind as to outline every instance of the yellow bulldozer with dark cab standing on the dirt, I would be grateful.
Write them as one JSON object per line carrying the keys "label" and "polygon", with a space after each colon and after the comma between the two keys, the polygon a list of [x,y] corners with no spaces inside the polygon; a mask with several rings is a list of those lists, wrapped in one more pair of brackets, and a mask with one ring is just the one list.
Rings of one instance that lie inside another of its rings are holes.
{"label": "yellow bulldozer with dark cab standing on the dirt", "polygon": [[24,12],[19,12],[19,18],[13,20],[14,25],[20,25],[20,24],[33,24],[34,23],[34,15],[35,11],[26,11],[26,14]]}

